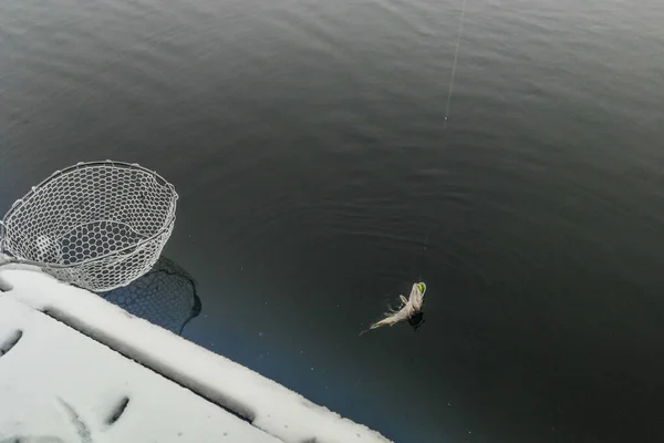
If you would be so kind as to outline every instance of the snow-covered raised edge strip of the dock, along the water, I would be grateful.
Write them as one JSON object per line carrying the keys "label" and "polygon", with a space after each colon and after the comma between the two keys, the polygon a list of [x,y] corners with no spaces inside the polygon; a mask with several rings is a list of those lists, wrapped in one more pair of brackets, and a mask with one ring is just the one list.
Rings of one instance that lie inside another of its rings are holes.
{"label": "snow-covered raised edge strip of the dock, along the water", "polygon": [[[342,419],[272,380],[132,317],[91,292],[63,285],[34,270],[3,267],[0,268],[0,279],[4,280],[4,286],[13,288],[0,292],[0,299],[10,298],[45,311],[210,402],[246,418],[255,426],[284,442],[388,442],[377,432]],[[48,318],[43,313],[39,316]],[[3,337],[0,332],[0,346]],[[85,359],[81,356],[77,361]],[[85,364],[95,364],[94,358],[90,362]],[[0,368],[2,364],[0,358]],[[77,371],[87,372],[81,364],[76,368]],[[105,372],[97,373],[101,374]],[[0,384],[1,380],[0,378]],[[129,442],[122,439],[117,441]],[[247,437],[243,441],[263,440]]]}

